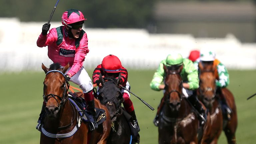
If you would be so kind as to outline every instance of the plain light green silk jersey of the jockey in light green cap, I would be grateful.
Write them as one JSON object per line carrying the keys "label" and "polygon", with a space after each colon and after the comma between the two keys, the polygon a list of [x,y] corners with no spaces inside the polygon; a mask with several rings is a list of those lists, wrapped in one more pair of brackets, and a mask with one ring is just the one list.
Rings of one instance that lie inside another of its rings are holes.
{"label": "plain light green silk jersey of the jockey in light green cap", "polygon": [[[166,73],[164,67],[166,66],[166,59],[162,60],[158,66],[158,69],[154,73],[153,79],[150,83],[150,87],[153,90],[159,91],[159,85],[163,82]],[[181,78],[183,81],[188,82],[189,89],[195,90],[199,86],[198,70],[194,67],[193,62],[189,59],[183,59],[183,69],[181,70]]]}

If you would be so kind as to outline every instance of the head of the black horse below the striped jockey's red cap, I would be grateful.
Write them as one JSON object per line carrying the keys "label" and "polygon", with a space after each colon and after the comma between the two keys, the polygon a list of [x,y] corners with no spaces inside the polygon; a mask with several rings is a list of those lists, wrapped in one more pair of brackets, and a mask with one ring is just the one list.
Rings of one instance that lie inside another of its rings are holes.
{"label": "head of the black horse below the striped jockey's red cap", "polygon": [[115,78],[104,78],[104,81],[100,76],[102,88],[99,90],[98,99],[104,104],[110,113],[111,122],[114,122],[117,115],[122,113],[122,102],[124,101],[123,95],[120,92],[119,84],[121,76],[118,79]]}

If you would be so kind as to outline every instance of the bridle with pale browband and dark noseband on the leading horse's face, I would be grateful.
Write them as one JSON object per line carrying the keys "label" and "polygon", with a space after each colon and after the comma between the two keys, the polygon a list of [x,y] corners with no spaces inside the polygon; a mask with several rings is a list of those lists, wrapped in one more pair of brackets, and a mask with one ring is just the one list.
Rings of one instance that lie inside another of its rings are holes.
{"label": "bridle with pale browband and dark noseband on the leading horse's face", "polygon": [[[63,74],[61,71],[59,71],[59,70],[50,70],[50,71],[48,71],[48,72],[46,73],[46,75],[47,75],[48,73],[50,73],[50,72],[59,72],[59,73],[61,73],[61,74],[63,75],[63,77],[64,77],[64,74]],[[67,91],[68,91],[68,89],[69,89],[69,83],[68,83],[67,81],[65,82],[64,87],[65,87],[65,89],[64,89],[64,92],[63,92],[62,97],[60,97],[60,96],[58,96],[58,95],[56,95],[56,94],[48,94],[47,96],[45,96],[45,92],[44,92],[44,94],[43,94],[43,99],[44,99],[45,103],[47,103],[50,98],[54,98],[54,99],[57,101],[57,103],[58,103],[58,108],[60,109],[60,108],[63,106],[63,104],[65,103],[65,101],[67,100]],[[44,90],[43,90],[43,91],[44,91]],[[48,98],[48,97],[49,97],[49,98]],[[61,100],[60,103],[58,102],[58,100],[57,100],[56,97]],[[48,99],[47,99],[47,98],[48,98]],[[47,100],[46,100],[46,99],[47,99]]]}

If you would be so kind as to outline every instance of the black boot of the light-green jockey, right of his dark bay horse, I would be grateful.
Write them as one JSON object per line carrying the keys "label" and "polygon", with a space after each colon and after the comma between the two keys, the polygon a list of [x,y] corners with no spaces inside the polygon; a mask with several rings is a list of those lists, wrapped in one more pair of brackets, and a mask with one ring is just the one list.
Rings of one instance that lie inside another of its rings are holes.
{"label": "black boot of the light-green jockey, right of his dark bay horse", "polygon": [[194,106],[194,108],[199,112],[198,117],[199,117],[200,125],[204,125],[207,120],[207,114],[206,114],[206,111],[204,110],[203,106],[197,99],[196,95],[193,94],[193,95],[189,96],[188,100]]}

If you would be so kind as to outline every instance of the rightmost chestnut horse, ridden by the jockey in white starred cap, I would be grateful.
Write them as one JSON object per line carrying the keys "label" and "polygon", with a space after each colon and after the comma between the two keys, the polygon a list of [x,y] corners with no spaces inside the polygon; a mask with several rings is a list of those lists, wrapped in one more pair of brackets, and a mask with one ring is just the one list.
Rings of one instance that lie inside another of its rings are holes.
{"label": "rightmost chestnut horse, ridden by the jockey in white starred cap", "polygon": [[216,67],[213,64],[204,64],[201,62],[198,64],[200,71],[199,74],[199,88],[198,98],[207,107],[211,115],[211,127],[212,133],[210,135],[210,144],[216,144],[218,138],[224,130],[227,141],[229,144],[236,143],[235,132],[237,128],[237,111],[233,94],[227,89],[222,88],[222,94],[225,96],[228,106],[231,108],[230,121],[223,119],[223,112],[219,98],[216,95],[216,84],[214,71]]}

